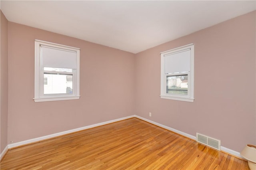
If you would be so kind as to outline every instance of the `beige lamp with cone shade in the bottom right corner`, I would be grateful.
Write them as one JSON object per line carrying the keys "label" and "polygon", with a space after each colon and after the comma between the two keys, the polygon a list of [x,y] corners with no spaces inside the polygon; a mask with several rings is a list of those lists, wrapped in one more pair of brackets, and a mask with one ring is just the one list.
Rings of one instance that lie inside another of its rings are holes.
{"label": "beige lamp with cone shade in the bottom right corner", "polygon": [[256,170],[256,145],[246,145],[240,155],[248,160],[250,170]]}

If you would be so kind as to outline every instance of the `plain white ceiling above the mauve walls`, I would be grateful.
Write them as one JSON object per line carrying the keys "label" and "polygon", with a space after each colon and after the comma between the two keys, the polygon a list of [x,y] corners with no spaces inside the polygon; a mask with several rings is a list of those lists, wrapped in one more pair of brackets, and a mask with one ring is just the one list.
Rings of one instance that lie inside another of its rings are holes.
{"label": "plain white ceiling above the mauve walls", "polygon": [[11,22],[132,53],[256,9],[256,1],[9,1]]}

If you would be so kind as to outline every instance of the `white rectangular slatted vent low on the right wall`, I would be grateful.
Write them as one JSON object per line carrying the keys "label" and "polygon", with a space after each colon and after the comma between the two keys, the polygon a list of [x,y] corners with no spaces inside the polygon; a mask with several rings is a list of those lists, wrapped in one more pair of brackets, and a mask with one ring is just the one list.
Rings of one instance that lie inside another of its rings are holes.
{"label": "white rectangular slatted vent low on the right wall", "polygon": [[220,150],[220,140],[211,138],[209,136],[205,136],[200,133],[196,133],[196,141],[207,146],[210,146],[211,148]]}

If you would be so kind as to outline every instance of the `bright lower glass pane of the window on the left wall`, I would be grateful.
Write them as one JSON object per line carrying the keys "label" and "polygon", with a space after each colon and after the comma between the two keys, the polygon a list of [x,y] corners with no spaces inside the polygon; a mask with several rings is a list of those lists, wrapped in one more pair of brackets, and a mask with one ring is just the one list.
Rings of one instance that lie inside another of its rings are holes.
{"label": "bright lower glass pane of the window on the left wall", "polygon": [[72,94],[73,93],[73,75],[44,73],[44,94]]}

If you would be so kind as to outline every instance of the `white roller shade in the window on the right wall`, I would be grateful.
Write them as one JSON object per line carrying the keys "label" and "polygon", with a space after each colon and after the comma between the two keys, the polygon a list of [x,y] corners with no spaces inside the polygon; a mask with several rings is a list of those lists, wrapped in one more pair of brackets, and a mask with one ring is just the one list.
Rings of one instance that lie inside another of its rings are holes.
{"label": "white roller shade in the window on the right wall", "polygon": [[164,73],[190,71],[190,49],[164,55]]}

